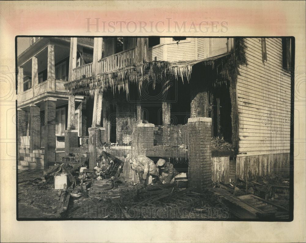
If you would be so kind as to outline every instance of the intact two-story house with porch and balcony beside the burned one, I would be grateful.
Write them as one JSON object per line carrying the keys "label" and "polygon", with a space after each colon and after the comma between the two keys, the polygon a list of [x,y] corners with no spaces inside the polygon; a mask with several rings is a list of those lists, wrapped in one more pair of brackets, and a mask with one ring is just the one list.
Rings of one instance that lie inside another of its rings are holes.
{"label": "intact two-story house with porch and balcony beside the burned one", "polygon": [[[17,58],[18,160],[20,168],[41,169],[65,155],[68,93],[64,84],[69,80],[70,38],[28,39],[30,46]],[[76,65],[92,62],[93,39],[80,38],[77,50]],[[84,103],[84,96],[76,96],[78,136],[86,135]]]}

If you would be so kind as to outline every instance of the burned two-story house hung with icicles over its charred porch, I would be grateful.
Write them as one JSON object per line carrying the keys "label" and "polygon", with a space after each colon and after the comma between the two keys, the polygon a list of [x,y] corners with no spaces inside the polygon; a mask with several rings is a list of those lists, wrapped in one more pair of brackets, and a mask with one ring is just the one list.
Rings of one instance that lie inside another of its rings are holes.
{"label": "burned two-story house hung with icicles over its charred porch", "polygon": [[[190,182],[203,187],[209,173],[228,181],[288,169],[290,67],[286,38],[94,38],[93,62],[72,63],[65,84],[66,154],[89,154],[93,168],[103,142],[116,142],[111,152],[121,158],[134,152],[188,159]],[[72,114],[76,97],[87,95],[92,124],[89,146],[81,148]],[[207,138],[215,136],[233,150],[211,151]],[[182,143],[188,151],[177,149]],[[124,176],[133,178],[124,166]]]}

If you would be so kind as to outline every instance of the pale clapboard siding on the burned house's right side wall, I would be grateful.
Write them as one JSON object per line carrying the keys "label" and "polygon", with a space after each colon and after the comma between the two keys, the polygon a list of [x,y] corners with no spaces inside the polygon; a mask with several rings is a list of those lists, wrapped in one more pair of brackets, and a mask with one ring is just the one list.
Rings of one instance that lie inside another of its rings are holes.
{"label": "pale clapboard siding on the burned house's right side wall", "polygon": [[[290,74],[282,68],[282,39],[244,38],[247,64],[238,67],[238,147],[241,156],[289,153]],[[246,153],[246,154],[245,154]]]}

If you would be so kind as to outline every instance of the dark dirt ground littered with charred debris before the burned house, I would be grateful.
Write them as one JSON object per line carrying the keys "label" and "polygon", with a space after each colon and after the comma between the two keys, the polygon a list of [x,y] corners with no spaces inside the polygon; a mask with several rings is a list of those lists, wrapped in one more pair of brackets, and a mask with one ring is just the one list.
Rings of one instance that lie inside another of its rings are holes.
{"label": "dark dirt ground littered with charred debris before the burned house", "polygon": [[[131,183],[121,184],[120,187],[102,191],[101,194],[89,193],[88,196],[83,195],[80,198],[70,197],[67,212],[64,217],[60,217],[57,213],[60,194],[59,190],[54,190],[53,180],[41,184],[29,181],[41,176],[43,170],[18,171],[18,219],[237,219],[228,208],[217,201],[212,191],[208,190],[205,194],[188,192],[182,196],[142,204],[144,200],[160,195],[162,190],[168,190],[168,193],[169,190],[174,190],[173,184],[148,185],[143,188],[139,184]],[[263,197],[268,184],[283,184],[283,181],[282,177],[270,176],[254,180],[261,182],[259,184],[262,186],[250,184],[251,182],[248,183],[247,190],[243,182],[237,182],[236,186],[240,188],[239,195],[250,193],[251,189],[255,195]],[[283,205],[288,199],[289,196],[283,198]]]}

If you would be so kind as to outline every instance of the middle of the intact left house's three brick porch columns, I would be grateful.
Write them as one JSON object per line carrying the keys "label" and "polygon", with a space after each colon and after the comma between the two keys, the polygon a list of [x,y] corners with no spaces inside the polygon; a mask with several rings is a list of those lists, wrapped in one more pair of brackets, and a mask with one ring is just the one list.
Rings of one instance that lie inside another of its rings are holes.
{"label": "middle of the intact left house's three brick porch columns", "polygon": [[40,149],[40,107],[30,106],[30,152]]}

